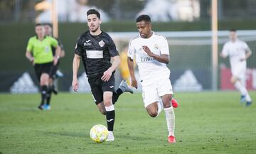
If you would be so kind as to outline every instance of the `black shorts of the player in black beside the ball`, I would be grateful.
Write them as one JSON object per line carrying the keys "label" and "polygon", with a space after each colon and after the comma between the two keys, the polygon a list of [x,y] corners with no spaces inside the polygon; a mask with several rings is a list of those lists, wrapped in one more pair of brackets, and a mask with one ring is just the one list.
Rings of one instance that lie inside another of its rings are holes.
{"label": "black shorts of the player in black beside the ball", "polygon": [[115,92],[114,89],[114,73],[110,77],[108,82],[100,79],[102,76],[90,77],[88,82],[92,90],[92,96],[95,100],[95,104],[99,104],[103,101],[103,92]]}

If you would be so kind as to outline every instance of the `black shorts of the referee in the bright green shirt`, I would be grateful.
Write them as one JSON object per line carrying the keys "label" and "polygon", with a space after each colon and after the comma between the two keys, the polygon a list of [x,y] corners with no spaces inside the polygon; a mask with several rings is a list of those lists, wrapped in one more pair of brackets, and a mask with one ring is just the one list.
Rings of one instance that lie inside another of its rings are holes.
{"label": "black shorts of the referee in the bright green shirt", "polygon": [[43,73],[47,73],[48,75],[50,75],[50,72],[52,71],[52,69],[53,69],[53,62],[34,65],[34,70],[36,72],[36,77],[38,78],[38,81],[40,81],[41,75]]}

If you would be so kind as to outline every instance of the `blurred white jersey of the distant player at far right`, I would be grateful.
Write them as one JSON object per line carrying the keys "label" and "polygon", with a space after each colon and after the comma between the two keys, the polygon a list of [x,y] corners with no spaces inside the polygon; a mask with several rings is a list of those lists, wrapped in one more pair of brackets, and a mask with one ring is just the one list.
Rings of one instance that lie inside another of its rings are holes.
{"label": "blurred white jersey of the distant player at far right", "polygon": [[240,61],[246,56],[246,50],[249,50],[248,45],[242,40],[235,40],[235,42],[228,41],[223,46],[222,54],[229,56],[230,66],[232,70],[239,67],[246,67],[246,60]]}

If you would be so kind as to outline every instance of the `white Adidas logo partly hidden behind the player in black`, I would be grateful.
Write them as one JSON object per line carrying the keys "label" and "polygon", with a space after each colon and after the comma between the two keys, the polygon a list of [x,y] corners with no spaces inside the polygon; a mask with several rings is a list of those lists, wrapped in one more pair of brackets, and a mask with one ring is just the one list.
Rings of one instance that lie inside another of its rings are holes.
{"label": "white Adidas logo partly hidden behind the player in black", "polygon": [[[88,82],[85,72],[83,72],[82,75],[80,77],[78,77],[78,85],[79,85],[78,92],[80,92],[80,93],[91,92],[90,84]],[[69,91],[74,92],[72,86],[70,87]]]}

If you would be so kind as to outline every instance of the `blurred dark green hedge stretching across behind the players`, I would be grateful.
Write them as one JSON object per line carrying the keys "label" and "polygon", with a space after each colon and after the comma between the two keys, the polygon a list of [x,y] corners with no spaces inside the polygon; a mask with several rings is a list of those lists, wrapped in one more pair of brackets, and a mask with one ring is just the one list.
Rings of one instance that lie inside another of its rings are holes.
{"label": "blurred dark green hedge stretching across behind the players", "polygon": [[[154,31],[209,31],[210,21],[152,23]],[[107,32],[137,31],[135,22],[102,23],[102,30]],[[220,21],[220,30],[237,28],[241,30],[255,29],[256,21]],[[60,23],[59,38],[65,47],[66,57],[61,60],[61,69],[72,70],[73,51],[78,35],[87,31],[87,23]],[[23,72],[32,71],[26,60],[25,51],[28,38],[35,35],[33,23],[1,23],[0,24],[0,71]],[[82,68],[82,67],[80,67]]]}

